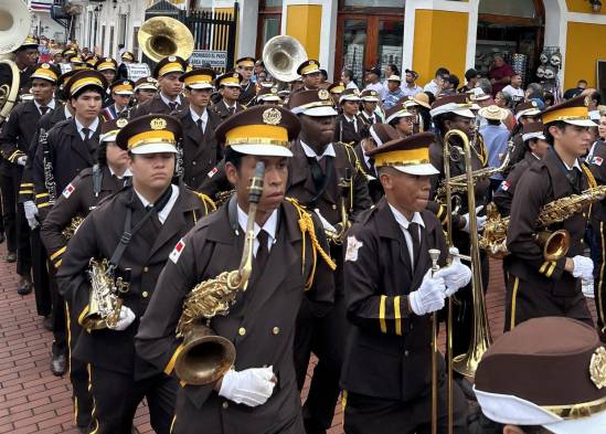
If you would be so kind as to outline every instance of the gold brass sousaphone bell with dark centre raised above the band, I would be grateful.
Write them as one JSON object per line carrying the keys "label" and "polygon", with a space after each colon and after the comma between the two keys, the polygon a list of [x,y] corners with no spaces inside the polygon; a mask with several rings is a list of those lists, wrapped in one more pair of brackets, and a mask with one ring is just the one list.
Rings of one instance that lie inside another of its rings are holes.
{"label": "gold brass sousaphone bell with dark centre raised above the band", "polygon": [[193,35],[185,24],[169,17],[150,18],[137,34],[145,55],[160,62],[169,55],[188,60],[193,53]]}

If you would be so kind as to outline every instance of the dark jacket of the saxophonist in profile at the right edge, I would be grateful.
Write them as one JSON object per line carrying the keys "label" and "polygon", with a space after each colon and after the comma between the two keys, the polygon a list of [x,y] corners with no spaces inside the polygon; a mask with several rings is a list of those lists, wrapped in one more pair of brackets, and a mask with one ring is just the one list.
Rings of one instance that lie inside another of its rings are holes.
{"label": "dark jacket of the saxophonist in profile at the right edge", "polygon": [[[566,257],[556,262],[543,258],[542,248],[534,241],[535,220],[543,205],[573,194],[574,189],[565,174],[565,168],[557,155],[550,151],[527,170],[515,188],[511,203],[511,215],[507,232],[507,246],[511,254],[506,257],[506,271],[519,277],[521,283],[533,285],[536,290],[547,290],[554,296],[571,297],[581,290],[581,279],[564,272]],[[576,170],[576,169],[575,169]],[[582,189],[588,188],[583,173]],[[567,257],[583,254],[583,236],[586,220],[583,213],[576,213],[563,223],[550,226],[550,230],[565,229],[571,234]]]}

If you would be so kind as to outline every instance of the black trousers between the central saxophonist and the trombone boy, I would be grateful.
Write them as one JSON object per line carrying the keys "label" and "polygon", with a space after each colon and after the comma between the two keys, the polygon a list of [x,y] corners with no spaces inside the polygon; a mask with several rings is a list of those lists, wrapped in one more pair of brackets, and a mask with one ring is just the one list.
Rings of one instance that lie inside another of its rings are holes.
{"label": "black trousers between the central saxophonist and the trombone boy", "polygon": [[334,405],[341,389],[341,364],[347,338],[345,303],[338,295],[334,307],[325,317],[315,317],[304,300],[297,317],[295,335],[295,369],[302,389],[311,352],[318,357],[307,401],[302,407],[307,434],[326,433],[332,424]]}

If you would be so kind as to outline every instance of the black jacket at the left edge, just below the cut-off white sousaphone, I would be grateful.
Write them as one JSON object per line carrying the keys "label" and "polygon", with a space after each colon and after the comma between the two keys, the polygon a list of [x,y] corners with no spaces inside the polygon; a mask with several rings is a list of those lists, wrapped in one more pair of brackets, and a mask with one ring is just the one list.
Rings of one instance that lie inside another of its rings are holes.
{"label": "black jacket at the left edge, just below the cut-off white sousaphone", "polygon": [[0,172],[8,177],[21,177],[23,166],[17,163],[19,157],[28,155],[40,120],[40,110],[33,100],[17,105],[0,130]]}

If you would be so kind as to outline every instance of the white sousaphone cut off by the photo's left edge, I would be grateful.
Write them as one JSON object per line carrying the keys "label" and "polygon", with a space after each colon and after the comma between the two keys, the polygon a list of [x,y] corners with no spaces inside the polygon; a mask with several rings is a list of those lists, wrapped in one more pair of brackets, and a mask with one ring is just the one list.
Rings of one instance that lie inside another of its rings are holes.
{"label": "white sousaphone cut off by the photo's left edge", "polygon": [[0,124],[19,95],[20,73],[12,54],[30,33],[31,17],[23,1],[0,0]]}

